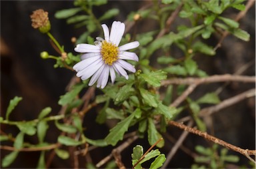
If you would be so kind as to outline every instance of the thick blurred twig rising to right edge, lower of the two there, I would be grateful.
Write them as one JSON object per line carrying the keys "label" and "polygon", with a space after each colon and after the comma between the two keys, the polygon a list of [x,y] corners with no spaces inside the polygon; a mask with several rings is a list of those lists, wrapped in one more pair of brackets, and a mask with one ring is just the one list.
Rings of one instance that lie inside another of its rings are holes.
{"label": "thick blurred twig rising to right edge, lower of the two there", "polygon": [[255,96],[255,88],[247,90],[245,92],[242,92],[241,94],[237,94],[236,96],[233,96],[231,98],[227,98],[226,100],[223,100],[221,103],[210,106],[207,108],[203,108],[199,112],[199,116],[209,116],[213,114],[214,112],[218,112],[219,110],[226,108],[227,106],[231,106],[241,100],[244,100],[245,98],[249,98],[251,96]]}

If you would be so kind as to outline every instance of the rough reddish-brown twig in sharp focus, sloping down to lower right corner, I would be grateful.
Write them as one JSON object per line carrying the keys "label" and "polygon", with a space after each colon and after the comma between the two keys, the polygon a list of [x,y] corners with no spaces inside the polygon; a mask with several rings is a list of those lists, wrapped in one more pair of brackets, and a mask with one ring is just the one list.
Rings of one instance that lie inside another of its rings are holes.
{"label": "rough reddish-brown twig in sharp focus, sloping down to lower right corner", "polygon": [[195,128],[191,128],[189,126],[186,126],[186,125],[181,124],[179,122],[175,122],[173,120],[169,121],[169,124],[171,124],[172,126],[176,126],[177,128],[181,128],[182,130],[185,130],[187,132],[191,132],[193,134],[201,136],[201,137],[203,137],[207,140],[210,140],[211,142],[214,142],[216,144],[224,146],[225,148],[228,148],[229,150],[239,152],[240,154],[243,154],[244,156],[249,158],[249,160],[252,160],[252,158],[250,156],[256,156],[256,150],[248,150],[248,149],[245,150],[245,149],[239,148],[239,147],[234,146],[232,144],[229,144],[229,143],[227,143],[227,142],[225,142],[225,141],[223,141],[219,138],[216,138],[215,136],[211,136],[211,135],[207,134],[207,132],[201,132],[200,130],[197,130]]}

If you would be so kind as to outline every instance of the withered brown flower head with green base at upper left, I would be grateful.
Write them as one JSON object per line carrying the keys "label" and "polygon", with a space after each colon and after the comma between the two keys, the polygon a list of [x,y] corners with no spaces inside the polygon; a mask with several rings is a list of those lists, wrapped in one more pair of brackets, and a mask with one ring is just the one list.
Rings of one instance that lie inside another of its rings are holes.
{"label": "withered brown flower head with green base at upper left", "polygon": [[51,23],[48,18],[48,12],[43,9],[37,9],[30,15],[32,21],[32,27],[39,29],[41,33],[47,33],[51,29]]}

